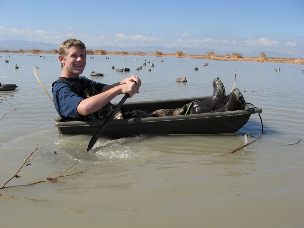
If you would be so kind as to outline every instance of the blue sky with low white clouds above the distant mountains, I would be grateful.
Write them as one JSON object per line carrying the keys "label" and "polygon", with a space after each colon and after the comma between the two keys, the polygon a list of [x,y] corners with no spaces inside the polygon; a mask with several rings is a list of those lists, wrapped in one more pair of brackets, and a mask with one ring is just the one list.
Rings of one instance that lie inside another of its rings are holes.
{"label": "blue sky with low white clouds above the distant mountains", "polygon": [[303,58],[303,8],[303,0],[1,1],[0,40],[59,47],[76,38],[87,47],[261,50]]}

